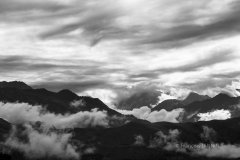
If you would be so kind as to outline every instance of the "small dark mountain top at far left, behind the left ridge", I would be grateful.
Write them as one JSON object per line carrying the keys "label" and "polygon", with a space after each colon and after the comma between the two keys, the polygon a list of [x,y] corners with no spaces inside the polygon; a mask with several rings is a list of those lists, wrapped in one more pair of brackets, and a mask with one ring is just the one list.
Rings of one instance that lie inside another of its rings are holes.
{"label": "small dark mountain top at far left, behind the left ridge", "polygon": [[32,89],[32,87],[30,87],[27,84],[25,84],[24,82],[20,82],[20,81],[0,82],[0,88]]}

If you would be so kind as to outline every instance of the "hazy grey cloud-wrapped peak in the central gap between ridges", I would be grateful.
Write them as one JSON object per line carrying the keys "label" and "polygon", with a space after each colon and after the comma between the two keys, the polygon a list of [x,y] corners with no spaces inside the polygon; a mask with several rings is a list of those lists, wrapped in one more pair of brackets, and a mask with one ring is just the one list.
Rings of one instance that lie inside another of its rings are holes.
{"label": "hazy grey cloud-wrapped peak in the central gap between ridges", "polygon": [[124,99],[118,103],[118,109],[133,110],[143,106],[156,105],[159,101],[160,91],[135,93],[131,97]]}

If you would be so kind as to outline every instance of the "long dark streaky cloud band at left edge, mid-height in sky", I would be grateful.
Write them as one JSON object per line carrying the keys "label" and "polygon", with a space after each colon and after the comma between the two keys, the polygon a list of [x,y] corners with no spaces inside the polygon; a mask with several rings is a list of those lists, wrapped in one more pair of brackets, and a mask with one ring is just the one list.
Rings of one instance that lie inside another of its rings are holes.
{"label": "long dark streaky cloud band at left edge, mid-height in sky", "polygon": [[[79,64],[79,62],[81,62]],[[88,60],[57,60],[44,59],[30,56],[1,56],[0,57],[0,72],[30,72],[30,71],[50,71],[68,72],[81,70],[81,73],[86,75],[94,75],[97,73],[107,73],[107,69],[101,67],[103,63]],[[110,71],[114,69],[109,69]],[[119,70],[118,70],[119,71]],[[76,74],[76,73],[74,73]]]}

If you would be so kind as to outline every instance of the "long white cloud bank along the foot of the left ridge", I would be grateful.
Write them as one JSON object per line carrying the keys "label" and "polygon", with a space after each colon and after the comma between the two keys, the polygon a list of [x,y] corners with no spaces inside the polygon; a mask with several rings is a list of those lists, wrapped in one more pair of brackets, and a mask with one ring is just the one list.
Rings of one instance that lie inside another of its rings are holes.
{"label": "long white cloud bank along the foot of the left ridge", "polygon": [[0,117],[12,124],[40,121],[56,128],[108,127],[107,113],[97,109],[61,115],[50,113],[40,105],[0,102]]}

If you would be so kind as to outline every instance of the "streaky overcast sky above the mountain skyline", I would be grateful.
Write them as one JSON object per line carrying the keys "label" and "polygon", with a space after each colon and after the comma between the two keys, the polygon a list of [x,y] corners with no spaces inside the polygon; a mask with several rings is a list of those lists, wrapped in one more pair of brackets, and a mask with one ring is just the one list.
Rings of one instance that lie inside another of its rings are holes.
{"label": "streaky overcast sky above the mountain skyline", "polygon": [[239,0],[0,0],[0,79],[105,101],[239,96],[239,14]]}

